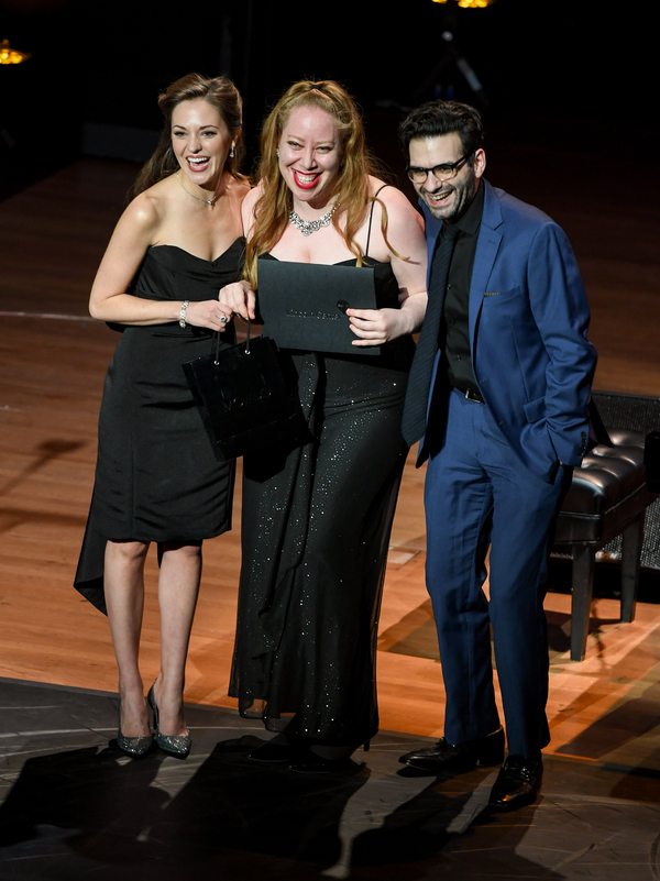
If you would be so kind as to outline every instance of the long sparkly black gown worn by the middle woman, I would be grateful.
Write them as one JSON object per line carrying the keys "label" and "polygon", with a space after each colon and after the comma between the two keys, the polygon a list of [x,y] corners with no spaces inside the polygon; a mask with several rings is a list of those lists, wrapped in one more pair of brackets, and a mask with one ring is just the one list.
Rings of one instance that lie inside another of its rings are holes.
{"label": "long sparkly black gown worn by the middle woman", "polygon": [[[378,307],[398,308],[389,264]],[[341,265],[354,265],[344,261]],[[356,746],[378,728],[377,619],[407,448],[415,345],[378,356],[283,352],[312,441],[243,460],[243,565],[230,695],[270,730]]]}

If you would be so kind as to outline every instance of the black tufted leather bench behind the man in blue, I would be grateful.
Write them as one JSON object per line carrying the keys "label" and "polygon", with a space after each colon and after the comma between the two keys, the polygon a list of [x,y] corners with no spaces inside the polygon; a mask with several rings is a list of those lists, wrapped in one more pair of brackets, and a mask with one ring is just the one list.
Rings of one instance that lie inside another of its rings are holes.
{"label": "black tufted leather bench behind the man in blue", "polygon": [[645,510],[656,499],[647,489],[645,436],[607,429],[613,447],[598,445],[573,472],[554,533],[553,550],[572,564],[571,660],[586,648],[596,552],[616,536],[622,542],[622,621],[635,618]]}

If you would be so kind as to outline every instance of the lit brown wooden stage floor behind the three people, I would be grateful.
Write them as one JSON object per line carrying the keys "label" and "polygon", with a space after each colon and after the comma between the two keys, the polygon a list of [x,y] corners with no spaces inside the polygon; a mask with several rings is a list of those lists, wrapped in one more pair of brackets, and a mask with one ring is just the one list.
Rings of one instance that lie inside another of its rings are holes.
{"label": "lit brown wooden stage floor behind the three people", "polygon": [[[605,170],[596,174],[606,180]],[[116,690],[107,621],[72,581],[92,486],[102,379],[116,343],[116,334],[87,317],[86,304],[133,176],[132,166],[84,159],[0,205],[0,676]],[[524,179],[527,191],[506,186],[548,210],[575,244],[593,309],[591,335],[601,353],[596,387],[660,395],[653,250],[660,222],[650,197],[635,190],[630,198],[638,202],[627,206],[615,235],[593,192],[580,201],[569,187],[562,200],[547,181],[546,190],[541,184],[535,190],[532,178]],[[593,179],[590,186],[595,190]],[[439,736],[443,694],[424,586],[422,482],[424,471],[410,459],[387,568],[378,695],[384,730]],[[193,703],[234,705],[227,685],[240,505],[238,492],[237,528],[205,544],[186,689]],[[145,682],[158,669],[153,559],[147,577]],[[637,619],[620,625],[618,605],[595,599],[582,663],[569,660],[570,596],[549,594],[547,610],[548,752],[660,771],[660,605],[640,604]]]}

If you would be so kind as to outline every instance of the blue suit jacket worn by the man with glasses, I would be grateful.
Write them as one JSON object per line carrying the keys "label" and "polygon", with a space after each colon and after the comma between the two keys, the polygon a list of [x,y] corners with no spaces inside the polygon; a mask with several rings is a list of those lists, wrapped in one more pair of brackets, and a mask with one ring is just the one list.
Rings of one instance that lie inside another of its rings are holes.
{"label": "blue suit jacket worn by the man with glasses", "polygon": [[[484,401],[522,462],[551,481],[558,462],[587,450],[587,403],[596,351],[588,305],[565,233],[547,214],[485,186],[470,286],[472,365]],[[425,205],[429,275],[442,221]],[[436,368],[438,359],[436,359]],[[441,431],[429,406],[427,433]]]}

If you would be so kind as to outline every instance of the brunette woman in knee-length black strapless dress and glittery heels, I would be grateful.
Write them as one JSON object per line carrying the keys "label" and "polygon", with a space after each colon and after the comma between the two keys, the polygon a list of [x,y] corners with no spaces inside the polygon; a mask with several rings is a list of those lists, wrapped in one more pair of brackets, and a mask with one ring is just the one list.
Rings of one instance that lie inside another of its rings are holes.
{"label": "brunette woman in knee-length black strapless dress and glittery heels", "polygon": [[233,463],[220,464],[182,364],[207,354],[231,309],[220,289],[241,273],[235,170],[241,98],[224,77],[190,74],[160,98],[165,129],[122,214],[90,296],[94,318],[121,331],[106,377],[91,509],[76,587],[108,613],[119,667],[119,746],[152,746],[138,654],[144,560],[158,543],[161,672],[148,703],[160,747],[187,755],[186,656],[201,542],[230,528]]}

